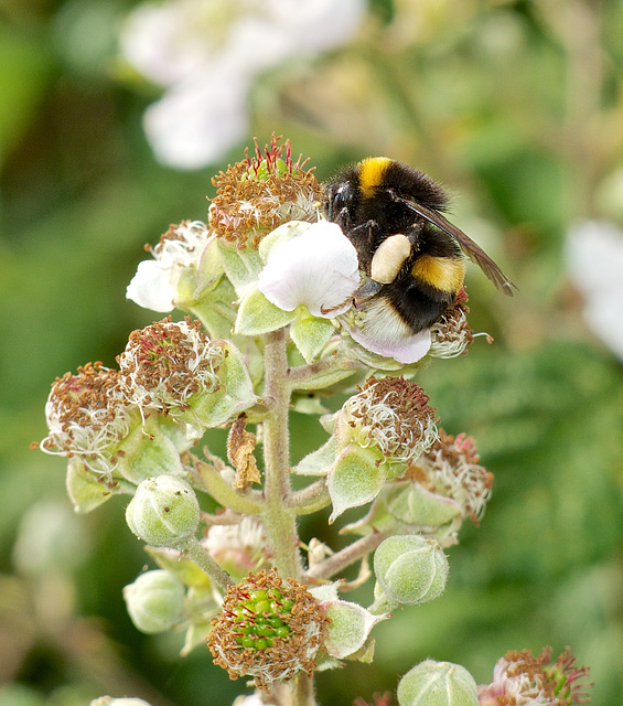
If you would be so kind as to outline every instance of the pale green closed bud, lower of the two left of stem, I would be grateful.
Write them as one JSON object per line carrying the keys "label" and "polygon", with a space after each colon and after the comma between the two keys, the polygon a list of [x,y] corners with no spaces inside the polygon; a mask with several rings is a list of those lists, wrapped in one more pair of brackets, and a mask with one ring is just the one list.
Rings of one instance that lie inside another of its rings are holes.
{"label": "pale green closed bud, lower of the two left of stem", "polygon": [[184,585],[164,569],[141,574],[123,588],[128,613],[137,630],[167,632],[184,618]]}

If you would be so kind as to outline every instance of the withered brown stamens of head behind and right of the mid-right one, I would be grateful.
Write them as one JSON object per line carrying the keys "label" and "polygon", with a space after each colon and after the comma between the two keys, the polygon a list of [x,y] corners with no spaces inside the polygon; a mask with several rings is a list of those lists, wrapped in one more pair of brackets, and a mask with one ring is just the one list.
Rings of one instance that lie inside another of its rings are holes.
{"label": "withered brown stamens of head behind and right of the mid-right one", "polygon": [[427,490],[454,500],[477,524],[493,486],[493,473],[479,466],[479,460],[472,437],[454,437],[440,429],[438,441],[422,453],[409,474]]}

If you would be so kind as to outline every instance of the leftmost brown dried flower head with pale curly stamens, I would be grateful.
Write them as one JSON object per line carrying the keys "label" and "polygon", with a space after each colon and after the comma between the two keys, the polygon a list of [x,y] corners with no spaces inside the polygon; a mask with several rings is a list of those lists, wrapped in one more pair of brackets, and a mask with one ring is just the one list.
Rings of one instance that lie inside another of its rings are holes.
{"label": "leftmost brown dried flower head with pale curly stamens", "polygon": [[116,447],[135,421],[121,392],[119,372],[99,362],[56,378],[45,417],[50,434],[40,445],[43,451],[78,456],[86,468],[107,477],[117,466]]}

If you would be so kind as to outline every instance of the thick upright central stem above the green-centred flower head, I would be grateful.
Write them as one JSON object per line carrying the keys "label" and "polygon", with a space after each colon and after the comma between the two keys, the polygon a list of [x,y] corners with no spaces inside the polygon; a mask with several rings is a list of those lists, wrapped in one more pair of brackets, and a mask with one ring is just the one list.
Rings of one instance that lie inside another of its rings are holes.
{"label": "thick upright central stem above the green-centred flower head", "polygon": [[269,413],[264,421],[266,505],[262,520],[278,573],[283,577],[298,579],[302,574],[302,567],[296,514],[284,504],[290,494],[290,387],[287,382],[288,357],[283,329],[266,334],[264,356],[264,399]]}

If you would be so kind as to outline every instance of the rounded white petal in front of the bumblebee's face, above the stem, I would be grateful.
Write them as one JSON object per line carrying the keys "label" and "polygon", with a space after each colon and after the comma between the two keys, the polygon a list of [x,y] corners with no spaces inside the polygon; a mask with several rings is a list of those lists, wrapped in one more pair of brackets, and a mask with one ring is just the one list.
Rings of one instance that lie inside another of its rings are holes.
{"label": "rounded white petal in front of the bumblebee's face, above the stem", "polygon": [[340,226],[310,225],[271,249],[258,287],[276,307],[305,306],[314,317],[334,318],[351,307],[359,284],[357,253]]}

